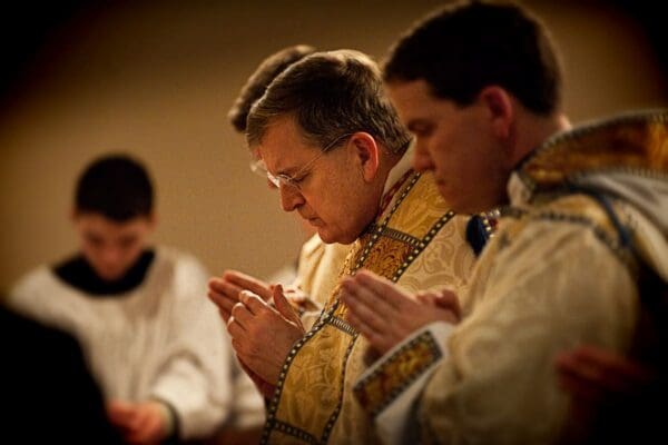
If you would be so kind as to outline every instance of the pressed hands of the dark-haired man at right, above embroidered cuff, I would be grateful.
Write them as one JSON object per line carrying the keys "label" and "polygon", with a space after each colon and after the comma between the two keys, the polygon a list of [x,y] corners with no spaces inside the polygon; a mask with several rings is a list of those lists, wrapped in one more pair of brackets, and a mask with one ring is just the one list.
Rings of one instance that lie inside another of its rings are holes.
{"label": "pressed hands of the dark-haired man at right, above embroidered cuff", "polygon": [[348,308],[348,323],[381,355],[430,323],[456,324],[461,316],[456,295],[450,290],[411,296],[367,270],[344,277],[341,299]]}

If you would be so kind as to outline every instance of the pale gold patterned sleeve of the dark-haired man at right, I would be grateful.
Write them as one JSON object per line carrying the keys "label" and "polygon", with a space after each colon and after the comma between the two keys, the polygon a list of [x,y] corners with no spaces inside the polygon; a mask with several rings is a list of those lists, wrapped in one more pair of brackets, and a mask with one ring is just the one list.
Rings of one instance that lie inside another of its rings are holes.
{"label": "pale gold patterned sleeve of the dark-haired man at right", "polygon": [[[473,285],[481,295],[472,313],[442,344],[448,353],[431,375],[413,380],[414,405],[400,415],[412,416],[424,443],[554,442],[570,403],[556,355],[580,344],[613,352],[630,345],[633,279],[590,227],[537,221],[494,255],[485,285]],[[396,422],[374,421],[379,432]]]}

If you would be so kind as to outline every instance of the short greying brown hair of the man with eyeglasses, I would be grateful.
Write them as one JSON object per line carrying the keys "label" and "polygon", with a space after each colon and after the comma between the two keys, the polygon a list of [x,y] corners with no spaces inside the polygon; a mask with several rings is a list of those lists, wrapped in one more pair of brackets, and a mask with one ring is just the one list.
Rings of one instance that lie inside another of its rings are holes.
{"label": "short greying brown hair of the man with eyeglasses", "polygon": [[411,140],[383,91],[379,67],[358,51],[316,52],[276,77],[250,109],[248,146],[259,145],[269,126],[285,116],[321,149],[357,131],[370,134],[392,154],[403,154]]}

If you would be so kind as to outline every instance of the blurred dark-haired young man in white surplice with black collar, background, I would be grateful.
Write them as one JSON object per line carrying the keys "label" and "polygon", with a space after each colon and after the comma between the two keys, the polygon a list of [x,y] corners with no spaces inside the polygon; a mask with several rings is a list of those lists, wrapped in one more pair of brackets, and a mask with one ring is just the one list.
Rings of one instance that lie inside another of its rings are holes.
{"label": "blurred dark-haired young man in white surplice with black collar, background", "polygon": [[10,291],[19,313],[76,337],[131,444],[209,436],[233,403],[229,340],[193,256],[151,247],[154,187],[125,155],[80,176],[71,215],[80,248],[29,273]]}

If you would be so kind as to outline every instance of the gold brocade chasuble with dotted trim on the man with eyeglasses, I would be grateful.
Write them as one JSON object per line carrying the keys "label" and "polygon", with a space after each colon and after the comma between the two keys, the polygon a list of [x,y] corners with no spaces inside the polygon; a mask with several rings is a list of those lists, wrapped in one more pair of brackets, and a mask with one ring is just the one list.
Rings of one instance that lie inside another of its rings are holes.
{"label": "gold brocade chasuble with dotted trim on the man with eyeglasses", "polygon": [[[365,268],[409,291],[449,286],[461,293],[474,259],[466,220],[448,208],[431,174],[412,172],[352,245],[342,274]],[[336,285],[313,328],[293,346],[269,400],[263,443],[377,442],[352,393],[367,344],[345,322],[338,291]]]}

